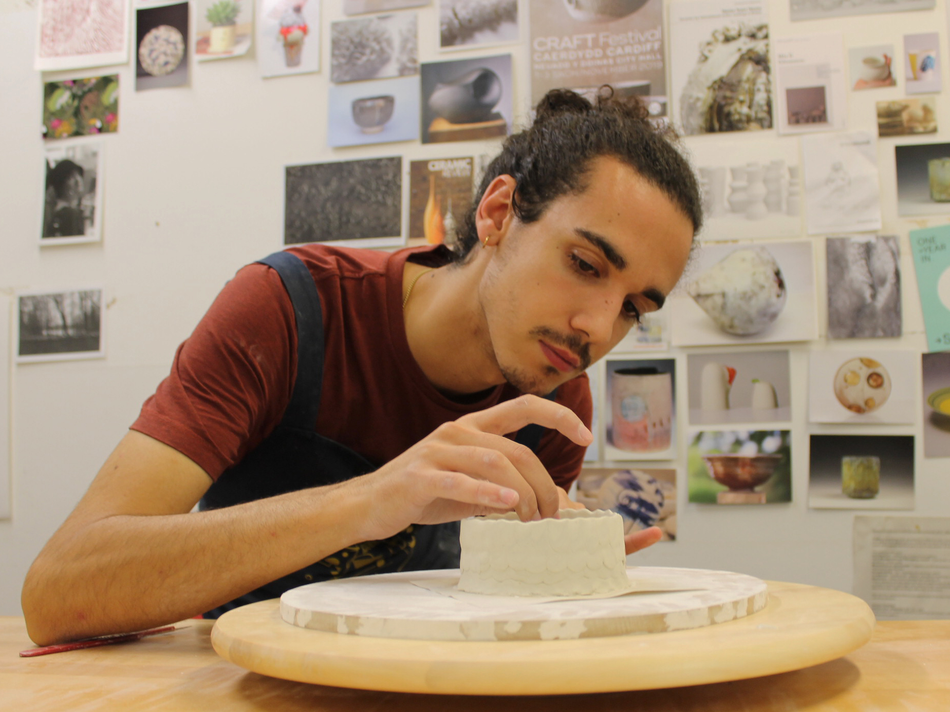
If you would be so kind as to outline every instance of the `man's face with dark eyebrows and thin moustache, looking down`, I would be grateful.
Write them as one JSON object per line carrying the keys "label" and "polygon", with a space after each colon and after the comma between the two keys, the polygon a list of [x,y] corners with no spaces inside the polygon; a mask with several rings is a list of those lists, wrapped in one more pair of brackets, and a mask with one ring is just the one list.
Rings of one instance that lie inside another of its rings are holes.
{"label": "man's face with dark eyebrows and thin moustache, looking down", "polygon": [[479,297],[504,379],[541,395],[577,376],[662,306],[692,243],[669,197],[619,160],[595,159],[583,193],[499,235]]}

